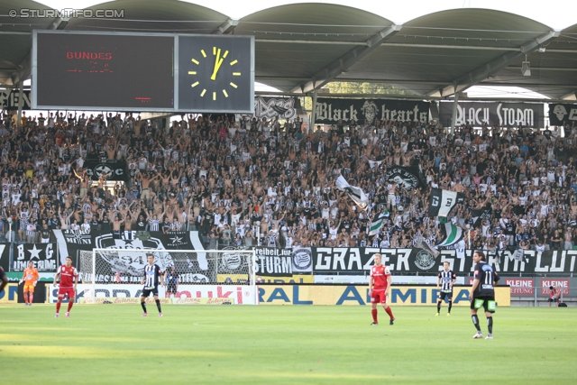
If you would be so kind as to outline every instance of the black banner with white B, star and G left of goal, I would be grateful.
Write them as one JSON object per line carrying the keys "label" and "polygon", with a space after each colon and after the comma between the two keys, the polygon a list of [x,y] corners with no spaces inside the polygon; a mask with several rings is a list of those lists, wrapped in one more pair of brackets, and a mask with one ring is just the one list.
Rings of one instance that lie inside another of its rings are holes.
{"label": "black banner with white B, star and G left of goal", "polygon": [[23,271],[32,261],[39,272],[56,272],[56,243],[22,243],[14,246],[12,271]]}

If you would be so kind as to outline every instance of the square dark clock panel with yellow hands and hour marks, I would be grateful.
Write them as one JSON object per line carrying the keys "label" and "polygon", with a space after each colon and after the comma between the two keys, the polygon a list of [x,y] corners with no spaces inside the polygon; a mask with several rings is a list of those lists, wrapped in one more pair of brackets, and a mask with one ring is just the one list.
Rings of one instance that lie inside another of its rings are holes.
{"label": "square dark clock panel with yellow hands and hour marks", "polygon": [[179,110],[252,113],[252,41],[179,36]]}

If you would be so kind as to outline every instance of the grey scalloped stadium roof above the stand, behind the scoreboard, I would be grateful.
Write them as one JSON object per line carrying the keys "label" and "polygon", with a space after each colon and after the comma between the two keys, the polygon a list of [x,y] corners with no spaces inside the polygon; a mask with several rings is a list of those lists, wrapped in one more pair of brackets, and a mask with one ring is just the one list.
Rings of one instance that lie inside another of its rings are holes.
{"label": "grey scalloped stadium roof above the stand, behind the scoreboard", "polygon": [[[21,8],[47,9],[32,0]],[[11,18],[0,1],[0,84],[30,78],[34,29],[101,32],[231,33],[255,37],[255,78],[287,93],[330,81],[384,82],[418,96],[451,97],[472,85],[525,87],[575,100],[577,24],[563,31],[517,14],[445,10],[403,24],[345,5],[279,5],[234,20],[177,0],[116,0],[88,9],[124,10],[124,18]],[[531,76],[521,67],[530,62]]]}

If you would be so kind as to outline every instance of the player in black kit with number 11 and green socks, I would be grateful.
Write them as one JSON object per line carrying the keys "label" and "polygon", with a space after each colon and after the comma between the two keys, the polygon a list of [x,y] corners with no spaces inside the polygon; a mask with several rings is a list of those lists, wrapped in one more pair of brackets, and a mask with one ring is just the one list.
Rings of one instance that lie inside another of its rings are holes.
{"label": "player in black kit with number 11 and green socks", "polygon": [[472,282],[469,299],[471,299],[471,317],[472,324],[477,328],[477,334],[473,338],[482,338],[481,325],[479,325],[479,316],[477,310],[481,307],[485,309],[485,316],[487,316],[487,326],[489,328],[489,335],[485,337],[487,340],[493,339],[493,313],[495,313],[495,285],[499,282],[499,275],[492,268],[492,266],[485,261],[484,252],[474,252],[472,260],[475,261],[475,272]]}

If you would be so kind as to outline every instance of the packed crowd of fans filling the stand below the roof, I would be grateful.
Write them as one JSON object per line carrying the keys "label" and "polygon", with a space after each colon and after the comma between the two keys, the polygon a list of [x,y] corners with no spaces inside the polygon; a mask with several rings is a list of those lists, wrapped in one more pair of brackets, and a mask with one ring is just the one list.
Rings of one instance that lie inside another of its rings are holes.
{"label": "packed crowd of fans filling the stand below the roof", "polygon": [[[466,196],[447,218],[486,250],[572,248],[577,237],[577,127],[458,127],[375,121],[308,130],[299,119],[182,115],[169,128],[131,114],[49,112],[18,122],[3,111],[3,210],[15,242],[50,229],[197,230],[223,246],[410,247],[442,237],[430,188]],[[87,160],[125,160],[128,179],[93,180]],[[386,180],[418,166],[424,184]],[[370,197],[363,211],[334,187],[340,175]],[[475,221],[472,213],[486,209]],[[386,215],[380,234],[371,220]]]}

